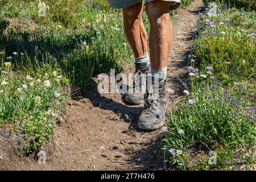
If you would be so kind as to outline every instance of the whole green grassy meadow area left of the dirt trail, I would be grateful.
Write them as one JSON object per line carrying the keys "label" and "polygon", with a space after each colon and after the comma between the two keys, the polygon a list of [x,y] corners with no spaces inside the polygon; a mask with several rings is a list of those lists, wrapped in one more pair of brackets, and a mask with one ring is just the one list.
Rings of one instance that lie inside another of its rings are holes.
{"label": "whole green grassy meadow area left of the dirt trail", "polygon": [[98,73],[125,71],[133,57],[121,11],[104,1],[47,1],[46,16],[38,1],[0,3],[0,126],[21,134],[30,153],[51,138],[71,94],[64,88],[96,85]]}

